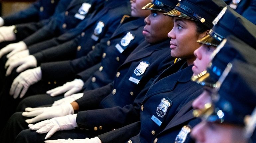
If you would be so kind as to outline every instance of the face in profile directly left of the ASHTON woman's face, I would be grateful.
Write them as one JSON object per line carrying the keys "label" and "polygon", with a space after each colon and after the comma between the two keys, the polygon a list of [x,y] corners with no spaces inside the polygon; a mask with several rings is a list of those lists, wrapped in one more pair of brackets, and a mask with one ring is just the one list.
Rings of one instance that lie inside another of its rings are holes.
{"label": "face in profile directly left of the ASHTON woman's face", "polygon": [[168,38],[167,34],[173,28],[173,18],[163,15],[164,12],[151,11],[145,18],[146,26],[142,34],[149,43],[158,43]]}

